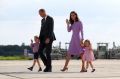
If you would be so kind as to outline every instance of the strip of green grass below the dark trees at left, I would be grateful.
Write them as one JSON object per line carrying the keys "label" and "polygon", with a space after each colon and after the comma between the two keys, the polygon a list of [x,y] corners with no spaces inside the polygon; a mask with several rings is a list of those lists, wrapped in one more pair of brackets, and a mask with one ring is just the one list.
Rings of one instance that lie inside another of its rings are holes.
{"label": "strip of green grass below the dark trees at left", "polygon": [[24,56],[0,56],[0,60],[31,60],[32,58]]}

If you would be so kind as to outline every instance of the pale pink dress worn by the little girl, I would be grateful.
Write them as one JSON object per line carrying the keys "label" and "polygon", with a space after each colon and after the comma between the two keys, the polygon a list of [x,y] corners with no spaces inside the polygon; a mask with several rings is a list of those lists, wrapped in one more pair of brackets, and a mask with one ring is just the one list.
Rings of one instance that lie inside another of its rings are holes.
{"label": "pale pink dress worn by the little girl", "polygon": [[84,48],[83,60],[84,61],[94,61],[95,60],[93,50],[90,49],[89,47]]}

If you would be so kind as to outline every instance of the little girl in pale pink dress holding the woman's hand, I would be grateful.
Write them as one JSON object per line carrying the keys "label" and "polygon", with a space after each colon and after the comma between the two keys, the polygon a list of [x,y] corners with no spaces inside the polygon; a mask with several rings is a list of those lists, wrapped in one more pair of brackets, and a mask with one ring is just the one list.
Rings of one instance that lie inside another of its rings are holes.
{"label": "little girl in pale pink dress holding the woman's hand", "polygon": [[91,47],[91,43],[89,40],[85,40],[84,42],[84,54],[83,54],[83,61],[86,61],[86,70],[88,69],[89,65],[92,68],[91,72],[94,72],[95,69],[93,67],[92,62],[95,60],[94,53]]}

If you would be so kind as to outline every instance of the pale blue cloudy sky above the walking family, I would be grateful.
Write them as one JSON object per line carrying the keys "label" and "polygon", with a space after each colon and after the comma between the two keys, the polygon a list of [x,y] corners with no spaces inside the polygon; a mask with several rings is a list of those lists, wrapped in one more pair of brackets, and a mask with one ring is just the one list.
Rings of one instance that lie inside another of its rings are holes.
{"label": "pale blue cloudy sky above the walking family", "polygon": [[55,20],[54,46],[61,41],[65,47],[70,41],[72,33],[67,32],[65,19],[73,10],[83,22],[85,39],[90,39],[94,48],[97,42],[120,45],[120,0],[0,0],[0,44],[28,45],[39,35],[40,8]]}

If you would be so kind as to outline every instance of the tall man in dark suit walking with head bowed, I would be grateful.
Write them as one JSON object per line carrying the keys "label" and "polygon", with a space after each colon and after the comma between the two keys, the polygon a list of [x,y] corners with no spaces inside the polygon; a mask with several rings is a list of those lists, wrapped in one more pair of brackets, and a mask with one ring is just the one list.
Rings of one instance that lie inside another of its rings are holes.
{"label": "tall man in dark suit walking with head bowed", "polygon": [[[41,30],[39,36],[40,46],[38,52],[40,54],[41,60],[46,66],[44,72],[52,72],[51,51],[52,43],[54,40],[56,40],[54,34],[54,20],[52,17],[46,14],[44,9],[40,9],[39,14],[43,19],[41,20]],[[44,49],[45,52],[43,52]]]}

